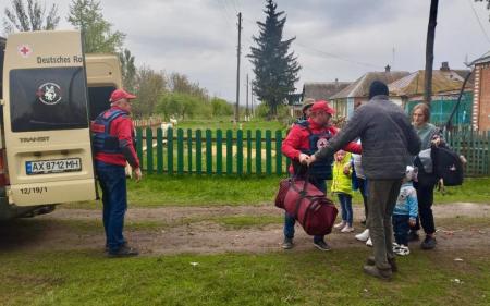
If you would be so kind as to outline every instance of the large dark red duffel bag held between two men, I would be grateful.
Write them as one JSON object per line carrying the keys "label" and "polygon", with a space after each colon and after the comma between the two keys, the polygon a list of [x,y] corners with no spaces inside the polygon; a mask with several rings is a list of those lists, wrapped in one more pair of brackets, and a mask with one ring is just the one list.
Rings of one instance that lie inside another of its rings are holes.
{"label": "large dark red duffel bag held between two men", "polygon": [[339,212],[333,201],[321,191],[307,180],[298,179],[281,181],[275,206],[293,216],[308,235],[331,233]]}

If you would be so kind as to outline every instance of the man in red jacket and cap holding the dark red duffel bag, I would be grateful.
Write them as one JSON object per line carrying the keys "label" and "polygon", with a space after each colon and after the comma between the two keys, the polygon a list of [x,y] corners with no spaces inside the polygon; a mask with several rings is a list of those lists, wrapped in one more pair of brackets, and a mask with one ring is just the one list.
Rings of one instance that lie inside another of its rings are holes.
{"label": "man in red jacket and cap holding the dark red duffel bag", "polygon": [[[290,172],[293,175],[304,175],[301,173],[301,163],[306,163],[308,157],[318,149],[324,147],[338,130],[330,124],[330,119],[335,113],[327,101],[316,101],[311,107],[310,117],[293,126],[287,137],[282,143],[282,152],[291,158],[292,167]],[[351,143],[344,150],[360,154],[360,145]],[[321,163],[313,163],[308,169],[309,182],[318,189],[327,193],[326,180],[332,179],[333,155]],[[303,171],[304,172],[304,171]],[[293,247],[295,220],[287,212],[284,218],[284,242],[282,247],[290,249]],[[326,243],[324,236],[314,236],[314,245],[321,250],[329,250],[330,246]]]}

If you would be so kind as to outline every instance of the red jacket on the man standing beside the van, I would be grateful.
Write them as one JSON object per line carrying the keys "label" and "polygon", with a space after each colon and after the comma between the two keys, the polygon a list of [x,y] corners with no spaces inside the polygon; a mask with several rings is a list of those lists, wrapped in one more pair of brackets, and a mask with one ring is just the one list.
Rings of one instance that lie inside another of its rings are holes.
{"label": "red jacket on the man standing beside the van", "polygon": [[[121,108],[112,107],[111,110]],[[119,164],[126,166],[126,161],[133,168],[139,168],[139,159],[136,155],[135,144],[133,140],[134,137],[134,126],[133,122],[128,117],[120,115],[115,118],[111,125],[109,134],[118,137],[120,147],[123,150],[123,154],[105,154],[105,152],[96,152],[95,159],[100,160],[110,164]]]}

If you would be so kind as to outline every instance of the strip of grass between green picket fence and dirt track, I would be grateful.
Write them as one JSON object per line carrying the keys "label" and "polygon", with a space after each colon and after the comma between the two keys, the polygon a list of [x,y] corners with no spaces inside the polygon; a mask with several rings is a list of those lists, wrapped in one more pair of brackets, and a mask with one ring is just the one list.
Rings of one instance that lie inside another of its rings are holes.
{"label": "strip of grass between green picket fence and dirt track", "polygon": [[[140,183],[128,182],[131,207],[237,206],[272,204],[280,176],[146,175]],[[490,203],[490,178],[466,179],[463,186],[436,192],[434,203]],[[356,192],[353,203],[360,205]],[[63,205],[66,208],[99,208],[95,203]]]}

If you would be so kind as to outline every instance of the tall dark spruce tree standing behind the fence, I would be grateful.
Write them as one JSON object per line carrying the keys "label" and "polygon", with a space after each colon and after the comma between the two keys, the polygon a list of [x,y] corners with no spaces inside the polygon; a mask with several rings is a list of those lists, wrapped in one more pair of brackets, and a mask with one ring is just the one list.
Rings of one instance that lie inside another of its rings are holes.
{"label": "tall dark spruce tree standing behind the fence", "polygon": [[257,22],[260,33],[258,37],[253,36],[257,46],[252,47],[248,54],[254,65],[254,94],[267,103],[270,115],[277,115],[278,106],[294,93],[301,70],[294,52],[289,50],[296,37],[282,40],[286,17],[281,17],[284,11],[277,12],[277,7],[272,0],[267,0],[266,22]]}

